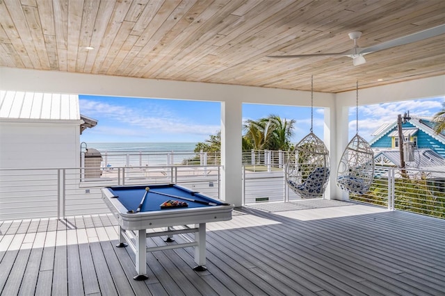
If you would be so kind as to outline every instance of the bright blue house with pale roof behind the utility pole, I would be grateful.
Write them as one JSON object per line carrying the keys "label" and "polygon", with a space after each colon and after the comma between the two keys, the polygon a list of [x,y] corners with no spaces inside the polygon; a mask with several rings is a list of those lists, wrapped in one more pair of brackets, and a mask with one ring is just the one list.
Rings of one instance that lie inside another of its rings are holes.
{"label": "bright blue house with pale roof behind the utility pole", "polygon": [[[436,133],[433,129],[435,122],[431,117],[411,116],[410,120],[402,124],[403,141],[411,142],[414,150],[431,149],[445,158],[445,133]],[[373,133],[374,138],[369,142],[375,151],[399,149],[397,122],[385,124]],[[378,154],[378,153],[376,153]]]}

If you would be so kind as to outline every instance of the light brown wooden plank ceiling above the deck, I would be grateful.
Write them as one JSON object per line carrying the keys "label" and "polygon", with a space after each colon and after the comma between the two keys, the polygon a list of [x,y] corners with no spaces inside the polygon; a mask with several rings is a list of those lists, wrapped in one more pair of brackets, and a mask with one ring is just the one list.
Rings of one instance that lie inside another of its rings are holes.
{"label": "light brown wooden plank ceiling above the deck", "polygon": [[[443,0],[1,0],[0,66],[343,92],[445,74],[445,35],[348,57],[445,23]],[[86,47],[94,47],[87,50]],[[378,81],[382,79],[382,81]]]}

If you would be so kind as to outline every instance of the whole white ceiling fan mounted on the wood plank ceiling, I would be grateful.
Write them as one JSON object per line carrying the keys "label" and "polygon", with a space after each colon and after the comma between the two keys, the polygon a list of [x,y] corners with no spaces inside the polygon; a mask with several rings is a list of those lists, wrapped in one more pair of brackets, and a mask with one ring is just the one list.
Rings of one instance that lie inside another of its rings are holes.
{"label": "whole white ceiling fan mounted on the wood plank ceiling", "polygon": [[445,33],[445,24],[435,26],[432,28],[428,28],[423,31],[419,31],[417,33],[413,33],[410,35],[405,35],[401,38],[396,38],[393,40],[385,41],[379,44],[375,44],[371,47],[359,47],[357,44],[357,40],[362,36],[362,32],[354,31],[348,33],[349,38],[354,40],[354,47],[352,49],[348,49],[347,51],[339,52],[339,53],[326,53],[326,54],[293,54],[289,56],[268,56],[269,58],[305,58],[310,56],[348,56],[353,58],[353,65],[358,66],[366,63],[364,55],[371,54],[375,51],[381,51],[383,49],[389,49],[391,47],[398,47],[404,44],[424,40],[427,38],[432,38],[437,35],[441,35]]}

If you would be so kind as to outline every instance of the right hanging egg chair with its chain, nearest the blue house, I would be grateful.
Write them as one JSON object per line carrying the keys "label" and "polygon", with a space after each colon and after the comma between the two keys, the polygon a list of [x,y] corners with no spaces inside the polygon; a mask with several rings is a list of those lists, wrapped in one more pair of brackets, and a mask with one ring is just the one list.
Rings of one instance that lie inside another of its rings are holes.
{"label": "right hanging egg chair with its chain, nearest the blue house", "polygon": [[357,82],[357,130],[341,156],[337,169],[337,186],[350,193],[364,195],[374,178],[374,153],[369,143],[358,134],[358,82]]}

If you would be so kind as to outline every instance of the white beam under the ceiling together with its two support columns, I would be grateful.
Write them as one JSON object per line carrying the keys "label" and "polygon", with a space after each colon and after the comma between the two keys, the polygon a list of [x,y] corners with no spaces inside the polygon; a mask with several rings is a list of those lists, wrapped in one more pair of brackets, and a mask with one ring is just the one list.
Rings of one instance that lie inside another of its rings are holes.
{"label": "white beam under the ceiling together with its two support columns", "polygon": [[[309,79],[309,74],[308,74]],[[25,82],[25,83],[24,83]],[[161,81],[154,79],[131,79],[93,74],[44,72],[0,67],[1,90],[28,90],[34,92],[58,92],[68,94],[96,94],[116,97],[145,97],[159,99],[187,99],[220,101],[222,104],[223,138],[223,197],[228,202],[241,205],[241,104],[278,104],[310,106],[310,92],[256,88],[240,85]],[[387,101],[402,101],[435,97],[445,94],[445,76],[419,79],[360,90],[360,104],[378,104]],[[327,108],[325,141],[332,151],[331,167],[337,170],[337,160],[348,144],[348,117],[344,110],[355,106],[355,90],[339,94],[314,93],[314,106]],[[347,114],[347,112],[346,112]],[[234,124],[231,124],[233,122]],[[238,140],[236,140],[238,139]],[[225,142],[224,142],[225,141]],[[332,174],[334,175],[334,174]],[[344,194],[332,182],[330,195],[344,199]]]}

